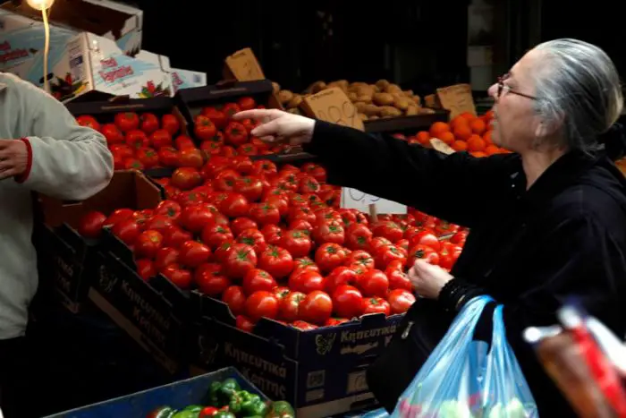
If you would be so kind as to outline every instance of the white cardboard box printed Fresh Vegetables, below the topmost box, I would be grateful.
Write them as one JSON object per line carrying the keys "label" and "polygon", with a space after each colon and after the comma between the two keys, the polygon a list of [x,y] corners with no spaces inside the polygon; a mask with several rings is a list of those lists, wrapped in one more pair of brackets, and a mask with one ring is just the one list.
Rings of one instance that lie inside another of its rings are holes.
{"label": "white cardboard box printed Fresh Vegetables, below the topmost box", "polygon": [[[63,64],[68,64],[65,70]],[[142,51],[137,57],[125,55],[107,38],[83,32],[67,43],[66,57],[55,74],[67,74],[70,90],[51,86],[63,101],[99,100],[114,96],[129,98],[171,97],[173,95],[169,58]]]}

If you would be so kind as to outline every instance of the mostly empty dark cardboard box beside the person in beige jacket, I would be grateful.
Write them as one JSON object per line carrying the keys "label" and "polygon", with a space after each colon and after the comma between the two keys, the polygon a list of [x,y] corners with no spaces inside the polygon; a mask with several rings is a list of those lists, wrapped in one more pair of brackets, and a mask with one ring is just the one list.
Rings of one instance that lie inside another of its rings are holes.
{"label": "mostly empty dark cardboard box beside the person in beige jacket", "polygon": [[109,214],[118,208],[154,208],[161,197],[155,183],[134,171],[115,172],[106,189],[88,200],[67,202],[39,196],[44,224],[39,228],[40,270],[52,278],[55,293],[69,311],[80,311],[103,262],[101,240],[86,240],[76,232],[80,218],[90,210]]}

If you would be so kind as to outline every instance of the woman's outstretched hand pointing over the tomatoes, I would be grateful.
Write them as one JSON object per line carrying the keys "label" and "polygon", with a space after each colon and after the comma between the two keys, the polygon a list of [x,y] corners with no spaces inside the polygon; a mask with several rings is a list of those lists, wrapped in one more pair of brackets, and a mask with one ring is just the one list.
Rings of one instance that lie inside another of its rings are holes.
{"label": "woman's outstretched hand pointing over the tomatoes", "polygon": [[278,109],[244,110],[233,115],[234,120],[255,119],[259,125],[250,132],[262,141],[301,145],[311,141],[315,121]]}

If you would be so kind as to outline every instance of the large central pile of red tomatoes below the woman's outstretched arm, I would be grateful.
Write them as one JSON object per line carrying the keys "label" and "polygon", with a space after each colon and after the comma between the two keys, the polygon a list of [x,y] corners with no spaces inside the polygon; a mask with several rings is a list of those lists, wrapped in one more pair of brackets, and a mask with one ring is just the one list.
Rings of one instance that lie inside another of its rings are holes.
{"label": "large central pile of red tomatoes below the woman's outstretched arm", "polygon": [[340,189],[312,163],[278,169],[214,156],[159,183],[167,200],[157,208],[91,212],[80,233],[97,237],[110,227],[134,252],[141,277],[160,273],[221,299],[246,330],[264,317],[310,329],[407,311],[415,302],[408,266],[425,259],[452,268],[466,235],[415,210],[372,222],[338,209]]}

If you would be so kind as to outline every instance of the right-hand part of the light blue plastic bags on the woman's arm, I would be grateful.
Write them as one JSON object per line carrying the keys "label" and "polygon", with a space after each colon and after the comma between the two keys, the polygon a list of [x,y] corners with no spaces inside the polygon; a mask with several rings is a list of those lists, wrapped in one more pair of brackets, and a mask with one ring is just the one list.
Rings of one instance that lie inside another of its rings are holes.
{"label": "right-hand part of the light blue plastic bags on the woman's arm", "polygon": [[487,418],[537,417],[537,405],[506,340],[503,305],[494,311],[494,335],[486,356],[481,405]]}

